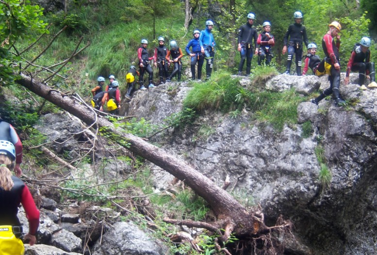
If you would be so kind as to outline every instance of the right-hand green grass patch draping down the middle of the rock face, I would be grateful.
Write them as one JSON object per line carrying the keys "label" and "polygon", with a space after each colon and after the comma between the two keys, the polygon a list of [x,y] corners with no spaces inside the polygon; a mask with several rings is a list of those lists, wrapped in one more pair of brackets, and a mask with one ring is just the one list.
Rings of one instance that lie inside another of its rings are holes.
{"label": "right-hand green grass patch draping down the middle of the rock face", "polygon": [[299,96],[293,88],[283,93],[264,91],[251,94],[249,100],[249,107],[258,120],[281,131],[285,123],[297,123],[297,105],[306,98]]}

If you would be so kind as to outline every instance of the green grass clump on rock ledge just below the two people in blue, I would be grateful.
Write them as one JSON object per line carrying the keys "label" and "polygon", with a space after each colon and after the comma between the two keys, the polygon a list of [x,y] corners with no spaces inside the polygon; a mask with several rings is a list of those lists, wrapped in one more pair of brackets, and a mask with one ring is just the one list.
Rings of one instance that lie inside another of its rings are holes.
{"label": "green grass clump on rock ledge just below the two people in blue", "polygon": [[236,99],[241,91],[237,79],[232,79],[229,73],[218,73],[211,80],[195,84],[183,105],[197,111],[220,109],[226,112],[239,107]]}

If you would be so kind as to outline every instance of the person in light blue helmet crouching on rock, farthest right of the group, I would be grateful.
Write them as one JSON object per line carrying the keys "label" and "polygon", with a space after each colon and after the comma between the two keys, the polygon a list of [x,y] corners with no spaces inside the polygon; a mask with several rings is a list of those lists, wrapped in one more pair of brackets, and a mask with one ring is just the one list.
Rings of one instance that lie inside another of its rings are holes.
{"label": "person in light blue helmet crouching on rock, farthest right of the group", "polygon": [[370,79],[368,88],[376,88],[375,81],[375,63],[370,62],[371,52],[369,47],[371,46],[371,39],[368,37],[362,37],[360,43],[355,45],[355,48],[351,52],[351,57],[348,60],[347,71],[345,73],[344,84],[349,82],[349,73],[351,71],[359,71],[359,85],[362,90],[367,88],[364,85],[365,76]]}

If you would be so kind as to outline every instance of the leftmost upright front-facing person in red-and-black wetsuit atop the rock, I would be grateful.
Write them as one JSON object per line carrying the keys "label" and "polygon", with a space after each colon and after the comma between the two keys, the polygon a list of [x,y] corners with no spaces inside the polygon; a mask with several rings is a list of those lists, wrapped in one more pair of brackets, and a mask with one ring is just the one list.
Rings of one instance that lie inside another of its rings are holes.
{"label": "leftmost upright front-facing person in red-and-black wetsuit atop the rock", "polygon": [[[148,88],[154,88],[153,85],[153,69],[149,64],[149,61],[153,60],[153,56],[149,57],[149,53],[147,50],[148,41],[146,39],[141,40],[141,46],[137,49],[137,58],[139,59],[139,67],[140,67],[140,89],[147,90]],[[149,74],[148,83],[149,85],[147,88],[144,86],[144,73],[147,72]]]}

